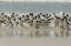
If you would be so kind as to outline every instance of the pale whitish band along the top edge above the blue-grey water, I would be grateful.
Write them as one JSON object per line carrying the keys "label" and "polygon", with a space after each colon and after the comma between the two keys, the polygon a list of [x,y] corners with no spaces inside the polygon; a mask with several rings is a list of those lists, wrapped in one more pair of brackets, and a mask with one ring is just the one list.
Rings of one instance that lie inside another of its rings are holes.
{"label": "pale whitish band along the top edge above the blue-grey water", "polygon": [[[0,1],[12,1],[12,0],[0,0]],[[36,2],[71,2],[71,0],[13,0],[13,1],[36,1]]]}

